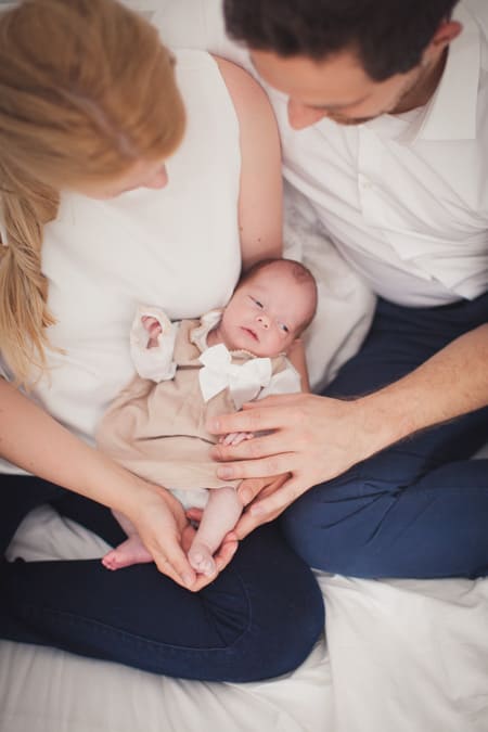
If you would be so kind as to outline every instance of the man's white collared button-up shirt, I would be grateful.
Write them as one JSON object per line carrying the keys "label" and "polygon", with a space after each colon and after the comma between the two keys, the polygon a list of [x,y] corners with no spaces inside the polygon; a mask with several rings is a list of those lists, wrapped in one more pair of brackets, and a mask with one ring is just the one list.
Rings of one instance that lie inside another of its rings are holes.
{"label": "man's white collared button-up shirt", "polygon": [[488,3],[460,4],[462,34],[425,107],[355,127],[287,121],[267,87],[285,178],[378,295],[407,306],[488,288]]}

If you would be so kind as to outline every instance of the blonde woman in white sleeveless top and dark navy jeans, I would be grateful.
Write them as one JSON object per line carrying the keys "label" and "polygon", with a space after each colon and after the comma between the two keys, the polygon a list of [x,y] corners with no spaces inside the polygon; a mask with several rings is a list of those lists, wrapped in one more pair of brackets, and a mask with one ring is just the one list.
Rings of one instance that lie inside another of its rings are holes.
{"label": "blonde woman in white sleeveless top and dark navy jeans", "polygon": [[323,611],[275,528],[222,572],[236,548],[224,543],[221,574],[196,577],[178,502],[91,447],[131,375],[134,303],[195,317],[229,298],[241,258],[280,252],[265,95],[227,62],[175,59],[114,0],[31,0],[0,14],[0,84],[2,547],[47,501],[116,543],[110,506],[162,573],[4,562],[0,633],[185,678],[283,673],[309,652]]}

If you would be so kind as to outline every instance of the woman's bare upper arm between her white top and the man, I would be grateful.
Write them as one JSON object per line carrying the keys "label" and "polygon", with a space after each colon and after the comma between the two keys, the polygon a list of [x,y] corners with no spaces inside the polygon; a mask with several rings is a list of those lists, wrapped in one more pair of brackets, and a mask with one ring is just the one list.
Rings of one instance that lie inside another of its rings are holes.
{"label": "woman's bare upper arm between her white top and the man", "polygon": [[239,226],[243,269],[282,255],[281,150],[268,98],[240,66],[217,57],[235,107],[241,136]]}

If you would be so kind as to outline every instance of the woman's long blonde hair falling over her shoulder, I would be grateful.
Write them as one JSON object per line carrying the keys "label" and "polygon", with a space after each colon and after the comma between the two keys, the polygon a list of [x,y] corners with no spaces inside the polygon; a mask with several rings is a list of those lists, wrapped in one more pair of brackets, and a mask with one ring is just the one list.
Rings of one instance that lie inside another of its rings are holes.
{"label": "woman's long blonde hair falling over her shoulder", "polygon": [[116,0],[24,0],[0,13],[0,343],[20,383],[46,368],[42,231],[65,188],[170,155],[184,110],[157,31]]}

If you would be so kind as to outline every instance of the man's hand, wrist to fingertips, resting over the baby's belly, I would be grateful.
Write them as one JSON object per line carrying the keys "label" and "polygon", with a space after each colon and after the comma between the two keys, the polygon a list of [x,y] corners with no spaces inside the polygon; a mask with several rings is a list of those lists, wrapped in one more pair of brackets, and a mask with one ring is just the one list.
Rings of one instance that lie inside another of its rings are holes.
{"label": "man's hand, wrist to fingertips, resting over the baby's belly", "polygon": [[[214,419],[207,428],[214,434],[265,433],[236,446],[214,446],[213,458],[226,462],[217,470],[219,478],[291,474],[248,509],[247,514],[259,516],[259,523],[281,513],[311,486],[344,473],[383,447],[368,426],[360,399],[342,401],[310,394],[244,404],[243,411]],[[244,490],[242,486],[240,492]],[[241,531],[243,525],[251,526],[247,514],[241,519]]]}

